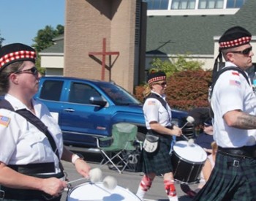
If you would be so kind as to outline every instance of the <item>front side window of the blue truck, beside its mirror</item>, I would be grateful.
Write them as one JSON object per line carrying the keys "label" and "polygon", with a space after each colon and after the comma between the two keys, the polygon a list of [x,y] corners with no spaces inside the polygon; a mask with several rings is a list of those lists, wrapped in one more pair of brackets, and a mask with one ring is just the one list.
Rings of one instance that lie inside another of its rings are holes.
{"label": "front side window of the blue truck, beside its mirror", "polygon": [[83,83],[72,83],[69,92],[69,102],[90,104],[91,96],[100,96],[100,94],[89,85]]}

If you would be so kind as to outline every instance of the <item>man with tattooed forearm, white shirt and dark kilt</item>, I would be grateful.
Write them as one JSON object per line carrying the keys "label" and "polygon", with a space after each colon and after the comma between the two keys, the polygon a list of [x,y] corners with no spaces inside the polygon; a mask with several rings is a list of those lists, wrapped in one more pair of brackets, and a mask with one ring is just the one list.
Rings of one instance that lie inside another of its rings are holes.
{"label": "man with tattooed forearm, white shirt and dark kilt", "polygon": [[219,39],[226,62],[211,96],[218,151],[214,170],[194,200],[255,200],[256,96],[245,72],[252,67],[251,39],[241,26]]}

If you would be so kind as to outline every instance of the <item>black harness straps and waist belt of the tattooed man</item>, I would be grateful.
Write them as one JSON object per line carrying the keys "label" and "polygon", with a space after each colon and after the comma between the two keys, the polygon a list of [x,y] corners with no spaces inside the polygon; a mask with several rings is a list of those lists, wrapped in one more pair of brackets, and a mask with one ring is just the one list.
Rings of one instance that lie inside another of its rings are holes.
{"label": "black harness straps and waist belt of the tattooed man", "polygon": [[[214,66],[215,67],[215,66]],[[244,75],[247,83],[249,84],[249,86],[251,86],[249,79],[246,75],[246,73],[244,72],[244,70],[238,68],[238,67],[225,67],[220,69],[218,72],[217,69],[214,69],[213,72],[213,83],[211,84],[209,91],[208,91],[208,101],[211,103],[211,96],[213,94],[214,91],[214,86],[219,78],[219,75],[221,75],[223,72],[227,71],[227,70],[235,70],[238,73],[241,73],[242,75]],[[210,104],[210,115],[211,118],[214,118],[214,112],[211,108],[211,104]],[[252,146],[243,146],[241,148],[222,148],[222,147],[218,147],[218,152],[225,155],[225,156],[233,156],[233,157],[237,157],[240,159],[244,159],[244,158],[256,158],[256,145],[252,145]],[[233,161],[233,166],[234,167],[238,167],[239,166],[239,161],[238,160],[234,160]]]}

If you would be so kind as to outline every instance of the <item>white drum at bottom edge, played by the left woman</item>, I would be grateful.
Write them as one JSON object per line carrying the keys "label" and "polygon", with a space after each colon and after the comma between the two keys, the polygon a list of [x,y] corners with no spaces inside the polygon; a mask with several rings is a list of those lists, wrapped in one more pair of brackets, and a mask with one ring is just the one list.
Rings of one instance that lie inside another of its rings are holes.
{"label": "white drum at bottom edge, played by the left woman", "polygon": [[140,201],[140,199],[128,189],[116,186],[113,190],[108,190],[102,182],[82,183],[75,186],[67,194],[67,201],[78,200],[105,200],[105,201]]}

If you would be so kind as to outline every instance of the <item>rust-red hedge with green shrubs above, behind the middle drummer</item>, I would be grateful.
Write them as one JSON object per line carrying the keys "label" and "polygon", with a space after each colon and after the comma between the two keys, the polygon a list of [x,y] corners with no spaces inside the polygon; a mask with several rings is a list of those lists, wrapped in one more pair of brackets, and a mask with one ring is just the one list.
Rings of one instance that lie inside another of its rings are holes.
{"label": "rust-red hedge with green shrubs above, behind the middle drummer", "polygon": [[[171,107],[191,110],[195,107],[208,107],[208,86],[211,83],[211,70],[202,68],[203,62],[187,61],[185,56],[178,56],[173,62],[154,58],[149,70],[163,71],[167,75],[165,94]],[[145,86],[135,87],[135,96],[143,102]]]}

